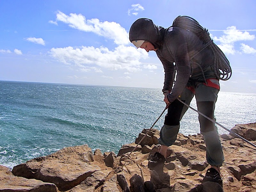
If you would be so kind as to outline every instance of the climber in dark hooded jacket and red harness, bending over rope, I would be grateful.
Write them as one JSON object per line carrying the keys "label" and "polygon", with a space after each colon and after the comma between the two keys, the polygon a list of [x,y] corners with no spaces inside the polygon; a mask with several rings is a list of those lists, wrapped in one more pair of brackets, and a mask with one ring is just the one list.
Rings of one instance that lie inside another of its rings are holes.
{"label": "climber in dark hooded jacket and red harness, bending over rope", "polygon": [[[213,69],[216,65],[214,52],[195,33],[177,26],[158,27],[147,18],[140,18],[132,24],[129,39],[137,48],[155,51],[164,67],[162,91],[168,112],[158,139],[160,151],[151,156],[148,162],[151,170],[159,164],[163,168],[167,149],[174,144],[180,120],[188,109],[177,98],[189,105],[195,95],[198,111],[216,120],[214,108],[220,78]],[[198,119],[206,145],[206,160],[211,165],[203,181],[214,181],[222,186],[220,167],[224,156],[217,127],[201,115]]]}

